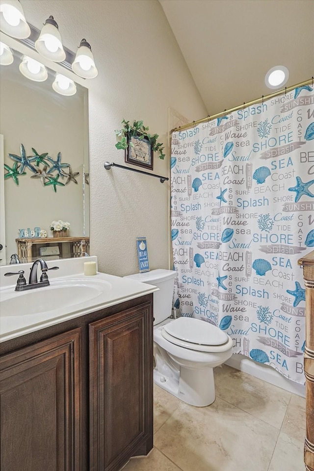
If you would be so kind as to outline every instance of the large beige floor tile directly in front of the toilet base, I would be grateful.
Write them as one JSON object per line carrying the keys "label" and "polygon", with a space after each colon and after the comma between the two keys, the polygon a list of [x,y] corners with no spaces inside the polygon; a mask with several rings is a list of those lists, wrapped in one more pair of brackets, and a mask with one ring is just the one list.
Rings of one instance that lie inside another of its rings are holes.
{"label": "large beige floor tile directly in front of the toilet base", "polygon": [[180,403],[154,445],[183,471],[267,471],[278,434],[217,397],[208,407]]}

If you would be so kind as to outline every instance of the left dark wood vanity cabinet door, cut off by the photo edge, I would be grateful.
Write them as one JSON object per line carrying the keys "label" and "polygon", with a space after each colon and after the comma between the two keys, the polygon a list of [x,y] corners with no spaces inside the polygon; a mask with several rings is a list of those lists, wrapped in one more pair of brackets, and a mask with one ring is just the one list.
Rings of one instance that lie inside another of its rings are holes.
{"label": "left dark wood vanity cabinet door, cut off by the photo edge", "polygon": [[0,358],[2,471],[81,471],[80,330]]}

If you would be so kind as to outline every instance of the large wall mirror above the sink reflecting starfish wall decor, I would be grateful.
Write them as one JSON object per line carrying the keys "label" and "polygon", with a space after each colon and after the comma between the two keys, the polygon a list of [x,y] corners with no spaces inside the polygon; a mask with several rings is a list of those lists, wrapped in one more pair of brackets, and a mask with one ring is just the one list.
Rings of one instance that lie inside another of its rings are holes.
{"label": "large wall mirror above the sink reflecting starfish wall decor", "polygon": [[[81,244],[58,241],[50,227],[52,221],[69,222],[66,236],[87,237],[89,243],[88,89],[77,83],[75,95],[60,95],[52,89],[54,71],[46,67],[47,80],[30,80],[19,70],[23,54],[13,54],[13,63],[0,67],[1,265],[10,263],[18,244],[26,249],[25,241],[16,241],[23,237],[31,239],[28,256],[31,250],[33,259],[42,254],[48,260],[79,256]],[[21,144],[30,157],[22,174]],[[54,162],[62,164],[59,172]],[[38,237],[38,228],[41,236],[46,231],[48,238],[54,237],[49,244]],[[85,249],[89,253],[87,244]]]}

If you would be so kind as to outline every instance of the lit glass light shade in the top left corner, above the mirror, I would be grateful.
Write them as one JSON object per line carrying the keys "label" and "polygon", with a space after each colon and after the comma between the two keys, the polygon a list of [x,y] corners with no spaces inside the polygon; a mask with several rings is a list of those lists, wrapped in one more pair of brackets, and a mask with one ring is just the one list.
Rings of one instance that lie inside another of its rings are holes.
{"label": "lit glass light shade in the top left corner, above the mirror", "polygon": [[19,0],[1,0],[0,29],[12,38],[25,39],[30,35],[30,28]]}

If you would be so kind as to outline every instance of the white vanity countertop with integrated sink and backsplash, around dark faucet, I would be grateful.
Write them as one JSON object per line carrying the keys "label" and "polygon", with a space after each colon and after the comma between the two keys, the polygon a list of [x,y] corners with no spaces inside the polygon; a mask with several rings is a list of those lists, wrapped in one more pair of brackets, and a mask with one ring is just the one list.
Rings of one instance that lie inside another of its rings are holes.
{"label": "white vanity countertop with integrated sink and backsplash, around dark faucet", "polygon": [[[83,263],[86,261],[96,261],[97,263],[97,257],[50,261],[48,267],[59,267],[57,271],[48,272],[51,285],[22,292],[14,291],[17,278],[4,277],[4,273],[24,270],[26,282],[28,282],[29,268],[32,264],[14,264],[0,267],[0,342],[158,290],[156,286],[147,283],[140,283],[131,278],[122,278],[106,273],[97,272],[96,275],[85,276],[83,274]],[[40,268],[38,268],[38,279],[39,276]],[[88,299],[82,300],[79,297],[79,291],[86,284],[93,286],[92,295]],[[66,293],[67,287],[69,287],[69,297],[66,298],[66,302],[63,302],[62,306],[51,309],[49,299],[52,298],[52,293],[58,293],[57,289],[60,286],[63,289],[63,294]],[[38,293],[36,307],[39,312],[35,314],[31,312],[29,306],[27,311],[28,293],[31,294],[32,300],[36,299],[36,293]],[[73,293],[77,293],[78,297],[73,296]],[[18,299],[18,297],[21,298]],[[20,304],[25,307],[23,309],[8,309],[10,299],[14,301],[15,305],[22,301]],[[48,300],[47,303],[43,302],[45,299]]]}

